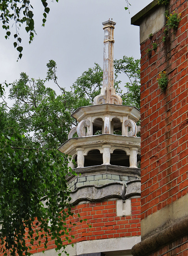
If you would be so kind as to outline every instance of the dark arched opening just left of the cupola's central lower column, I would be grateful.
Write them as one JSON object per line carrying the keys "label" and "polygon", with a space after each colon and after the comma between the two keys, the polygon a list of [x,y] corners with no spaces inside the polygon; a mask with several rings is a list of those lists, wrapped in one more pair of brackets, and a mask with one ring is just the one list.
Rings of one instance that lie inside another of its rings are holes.
{"label": "dark arched opening just left of the cupola's central lower column", "polygon": [[100,150],[93,149],[87,153],[85,156],[84,167],[95,166],[103,164],[103,154],[100,153]]}

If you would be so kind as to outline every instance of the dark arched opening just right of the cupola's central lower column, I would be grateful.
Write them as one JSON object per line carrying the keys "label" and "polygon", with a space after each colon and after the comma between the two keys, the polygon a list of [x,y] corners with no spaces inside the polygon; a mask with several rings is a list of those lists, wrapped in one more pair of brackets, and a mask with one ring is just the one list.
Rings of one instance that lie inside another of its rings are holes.
{"label": "dark arched opening just right of the cupola's central lower column", "polygon": [[129,167],[129,156],[127,156],[124,150],[115,149],[110,156],[110,164]]}

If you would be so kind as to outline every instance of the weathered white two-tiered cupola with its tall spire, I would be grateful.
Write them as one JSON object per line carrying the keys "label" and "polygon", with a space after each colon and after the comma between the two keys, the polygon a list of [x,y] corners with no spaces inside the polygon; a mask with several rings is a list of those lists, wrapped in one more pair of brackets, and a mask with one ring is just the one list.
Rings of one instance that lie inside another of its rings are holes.
{"label": "weathered white two-tiered cupola with its tall spire", "polygon": [[[75,160],[69,165],[81,174],[69,178],[70,188],[100,186],[111,182],[126,184],[140,178],[140,142],[136,123],[140,111],[122,105],[114,89],[113,44],[115,22],[103,22],[104,64],[103,88],[93,106],[78,108],[72,116],[79,122],[59,147]],[[73,134],[77,132],[76,138]]]}

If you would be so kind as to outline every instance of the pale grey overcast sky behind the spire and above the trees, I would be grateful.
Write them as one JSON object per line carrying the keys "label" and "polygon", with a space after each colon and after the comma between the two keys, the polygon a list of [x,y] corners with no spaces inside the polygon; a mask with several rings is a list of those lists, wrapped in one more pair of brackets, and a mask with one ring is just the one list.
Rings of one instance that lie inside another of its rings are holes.
{"label": "pale grey overcast sky behind the spire and above the trees", "polygon": [[[125,0],[59,0],[49,2],[46,26],[42,25],[43,8],[40,0],[33,0],[37,36],[32,44],[25,29],[20,29],[22,59],[13,46],[13,38],[5,40],[0,29],[0,83],[18,80],[20,72],[32,78],[45,78],[48,60],[57,63],[59,85],[70,88],[77,77],[97,62],[103,66],[103,25],[113,18],[115,26],[114,58],[123,55],[140,58],[139,27],[131,25],[131,17],[151,0],[130,0],[130,14]],[[14,35],[14,27],[12,35]]]}

